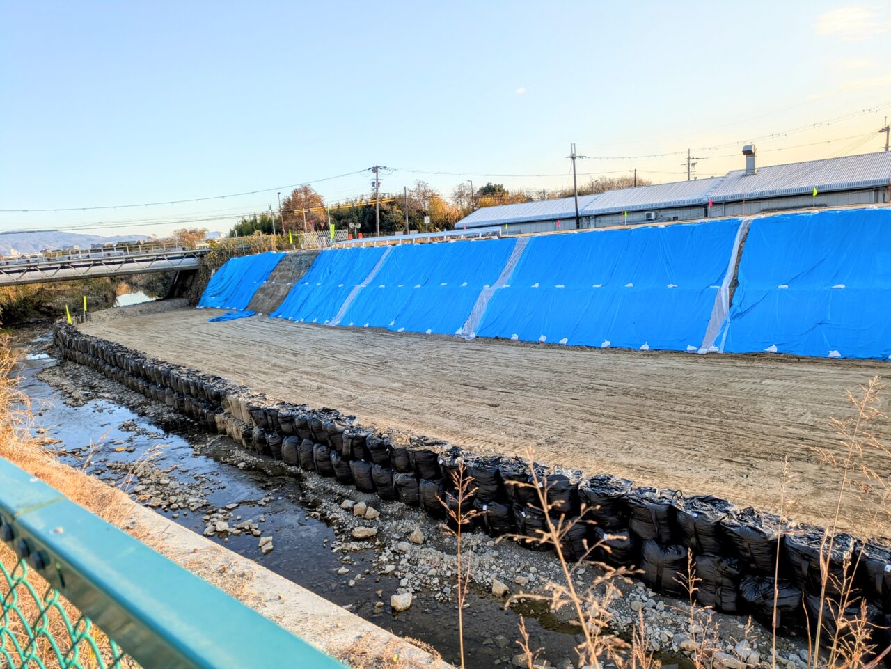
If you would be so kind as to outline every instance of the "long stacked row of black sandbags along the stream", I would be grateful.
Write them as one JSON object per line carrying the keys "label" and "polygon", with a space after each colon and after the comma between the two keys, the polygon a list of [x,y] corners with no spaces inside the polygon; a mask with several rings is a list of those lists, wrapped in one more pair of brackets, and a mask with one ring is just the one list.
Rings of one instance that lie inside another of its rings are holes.
{"label": "long stacked row of black sandbags along the stream", "polygon": [[[475,512],[463,528],[467,531],[516,534],[526,537],[520,541],[529,548],[550,550],[539,541],[549,520],[575,520],[561,545],[567,559],[635,567],[654,590],[686,596],[690,555],[700,603],[726,613],[746,611],[771,624],[778,591],[778,625],[790,629],[805,619],[808,598],[821,590],[822,552],[829,557],[830,598],[838,598],[838,584],[856,564],[857,593],[875,616],[891,613],[887,540],[859,542],[838,534],[829,551],[819,528],[783,525],[772,514],[738,510],[715,497],[635,487],[610,475],[584,477],[538,463],[530,469],[519,458],[482,457],[426,437],[381,433],[358,425],[355,416],[251,395],[225,379],[161,363],[66,324],[57,326],[54,340],[61,355],[257,453],[336,477],[381,499],[421,507],[453,525],[448,510],[458,511],[455,482],[463,472],[473,494],[462,510],[465,516]],[[778,556],[779,584],[774,581]]]}

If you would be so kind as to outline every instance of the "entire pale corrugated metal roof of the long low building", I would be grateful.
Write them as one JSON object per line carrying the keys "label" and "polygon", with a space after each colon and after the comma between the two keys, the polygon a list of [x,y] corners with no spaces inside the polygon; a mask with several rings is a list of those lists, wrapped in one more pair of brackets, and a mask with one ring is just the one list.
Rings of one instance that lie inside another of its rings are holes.
{"label": "entire pale corrugated metal roof of the long low building", "polygon": [[[708,200],[728,202],[801,195],[813,192],[846,191],[857,188],[876,188],[891,182],[891,152],[864,153],[808,160],[789,165],[759,167],[754,175],[738,169],[725,176],[680,181],[674,184],[654,184],[638,188],[623,188],[600,195],[580,195],[580,216],[614,214],[623,211],[691,207],[704,205]],[[576,215],[572,198],[536,200],[519,204],[484,207],[459,221],[455,227],[478,227],[549,221]]]}

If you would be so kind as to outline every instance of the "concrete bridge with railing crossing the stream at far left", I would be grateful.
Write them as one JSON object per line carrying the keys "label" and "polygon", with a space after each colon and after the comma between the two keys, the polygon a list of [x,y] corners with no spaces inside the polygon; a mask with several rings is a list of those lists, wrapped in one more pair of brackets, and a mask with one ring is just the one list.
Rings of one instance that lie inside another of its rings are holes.
{"label": "concrete bridge with railing crossing the stream at far left", "polygon": [[208,249],[169,244],[73,250],[0,259],[0,286],[77,281],[94,276],[195,270]]}

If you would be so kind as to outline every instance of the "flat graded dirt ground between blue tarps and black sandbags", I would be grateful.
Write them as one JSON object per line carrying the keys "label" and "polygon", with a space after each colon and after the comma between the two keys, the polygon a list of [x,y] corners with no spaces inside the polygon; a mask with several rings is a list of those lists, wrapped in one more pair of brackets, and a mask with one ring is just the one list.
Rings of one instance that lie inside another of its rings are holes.
{"label": "flat graded dirt ground between blue tarps and black sandbags", "polygon": [[[531,445],[538,461],[764,510],[779,508],[788,455],[791,514],[821,524],[835,509],[838,476],[808,446],[838,452],[830,417],[851,415],[846,391],[891,369],[871,361],[465,342],[266,317],[211,323],[212,315],[177,309],[84,330],[257,392],[355,413],[366,425],[445,438],[478,453],[524,454]],[[891,443],[887,420],[871,430]],[[891,459],[871,464],[891,477]],[[851,518],[843,523],[862,531],[866,511],[848,502]],[[891,527],[873,531],[891,534]]]}

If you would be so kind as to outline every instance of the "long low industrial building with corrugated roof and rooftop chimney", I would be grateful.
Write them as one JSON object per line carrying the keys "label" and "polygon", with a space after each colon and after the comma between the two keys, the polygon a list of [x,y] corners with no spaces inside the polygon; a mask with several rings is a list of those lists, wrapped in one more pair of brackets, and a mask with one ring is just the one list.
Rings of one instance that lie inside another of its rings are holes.
{"label": "long low industrial building with corrugated roof and rooftop chimney", "polygon": [[[891,201],[891,152],[757,167],[756,148],[749,144],[743,156],[746,167],[723,176],[580,195],[578,227],[751,216],[784,209]],[[505,225],[510,233],[575,230],[575,199],[480,208],[455,228],[487,225]]]}

